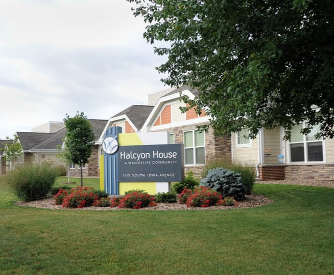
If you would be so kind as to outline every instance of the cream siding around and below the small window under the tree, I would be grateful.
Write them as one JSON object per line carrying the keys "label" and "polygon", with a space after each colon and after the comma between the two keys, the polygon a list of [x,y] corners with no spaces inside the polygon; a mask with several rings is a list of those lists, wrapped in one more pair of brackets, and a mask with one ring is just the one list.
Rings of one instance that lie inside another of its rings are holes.
{"label": "cream siding around and below the small window under the tree", "polygon": [[249,164],[255,165],[259,162],[258,160],[258,140],[255,139],[252,141],[252,147],[242,147],[237,148],[235,142],[235,133],[232,134],[232,161],[234,163],[242,163],[242,164]]}

